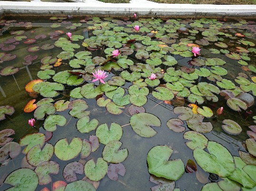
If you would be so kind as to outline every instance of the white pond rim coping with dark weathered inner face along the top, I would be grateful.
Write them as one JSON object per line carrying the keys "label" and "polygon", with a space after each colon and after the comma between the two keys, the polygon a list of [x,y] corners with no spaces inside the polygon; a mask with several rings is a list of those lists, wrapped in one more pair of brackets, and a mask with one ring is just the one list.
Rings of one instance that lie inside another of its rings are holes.
{"label": "white pond rim coping with dark weathered inner face along the top", "polygon": [[[76,0],[80,1],[80,0]],[[93,15],[98,17],[140,18],[256,18],[256,5],[164,4],[148,0],[131,3],[104,3],[97,0],[84,2],[0,1],[0,17],[4,16],[58,16]]]}

